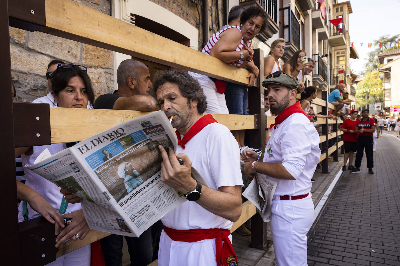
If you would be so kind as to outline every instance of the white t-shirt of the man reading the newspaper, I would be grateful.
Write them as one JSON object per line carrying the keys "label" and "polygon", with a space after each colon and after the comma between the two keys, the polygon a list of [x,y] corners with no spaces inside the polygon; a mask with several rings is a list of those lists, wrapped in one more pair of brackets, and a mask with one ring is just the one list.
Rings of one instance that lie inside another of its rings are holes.
{"label": "white t-shirt of the man reading the newspaper", "polygon": [[[186,153],[192,161],[192,167],[196,168],[210,188],[243,185],[238,142],[226,126],[208,124],[185,146],[185,149],[178,146],[176,152]],[[166,227],[178,230],[230,229],[233,224],[192,201],[182,203],[161,221]]]}

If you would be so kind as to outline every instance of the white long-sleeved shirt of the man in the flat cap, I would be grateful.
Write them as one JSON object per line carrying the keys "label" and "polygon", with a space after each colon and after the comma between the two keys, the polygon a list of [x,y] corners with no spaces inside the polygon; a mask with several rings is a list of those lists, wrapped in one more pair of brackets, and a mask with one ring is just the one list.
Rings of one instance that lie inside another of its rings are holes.
{"label": "white long-sleeved shirt of the man in the flat cap", "polygon": [[307,116],[291,114],[281,124],[272,128],[265,148],[263,162],[282,162],[296,180],[268,177],[278,182],[274,195],[304,195],[310,192],[321,150],[320,136]]}

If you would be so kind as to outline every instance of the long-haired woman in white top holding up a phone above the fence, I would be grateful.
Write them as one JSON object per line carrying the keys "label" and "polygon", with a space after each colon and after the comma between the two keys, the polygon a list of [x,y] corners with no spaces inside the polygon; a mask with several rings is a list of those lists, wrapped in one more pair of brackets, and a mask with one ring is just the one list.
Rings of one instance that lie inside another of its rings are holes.
{"label": "long-haired woman in white top holding up a phone above the fence", "polygon": [[308,67],[308,61],[303,60],[305,56],[306,52],[300,49],[293,54],[289,61],[283,64],[283,71],[297,79],[297,93],[302,93],[305,88],[303,69]]}

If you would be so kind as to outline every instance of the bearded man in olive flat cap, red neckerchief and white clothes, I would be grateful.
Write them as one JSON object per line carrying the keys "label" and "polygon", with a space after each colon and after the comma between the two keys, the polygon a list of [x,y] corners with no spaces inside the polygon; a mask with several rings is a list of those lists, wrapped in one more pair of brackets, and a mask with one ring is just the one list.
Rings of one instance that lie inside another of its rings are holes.
{"label": "bearded man in olive flat cap, red neckerchief and white clothes", "polygon": [[296,101],[296,79],[283,71],[267,76],[272,124],[264,158],[244,150],[246,175],[257,171],[278,183],[272,200],[271,232],[278,265],[307,265],[307,233],[312,224],[314,205],[311,178],[321,150],[320,137]]}

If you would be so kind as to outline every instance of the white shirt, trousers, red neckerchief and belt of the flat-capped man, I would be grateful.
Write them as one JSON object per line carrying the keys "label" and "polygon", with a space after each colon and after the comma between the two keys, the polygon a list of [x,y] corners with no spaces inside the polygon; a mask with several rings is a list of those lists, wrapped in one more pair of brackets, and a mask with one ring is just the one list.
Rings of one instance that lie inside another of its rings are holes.
{"label": "white shirt, trousers, red neckerchief and belt of the flat-capped man", "polygon": [[[301,109],[300,102],[283,110],[275,122],[276,128],[271,127],[263,162],[282,162],[296,179],[268,177],[278,183],[271,215],[276,263],[307,265],[307,233],[314,215],[311,177],[321,155],[320,136]],[[288,195],[289,200],[281,197],[284,195]],[[300,196],[300,199],[292,199],[292,196]]]}

